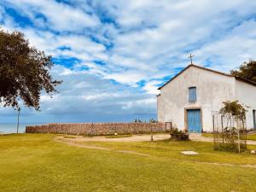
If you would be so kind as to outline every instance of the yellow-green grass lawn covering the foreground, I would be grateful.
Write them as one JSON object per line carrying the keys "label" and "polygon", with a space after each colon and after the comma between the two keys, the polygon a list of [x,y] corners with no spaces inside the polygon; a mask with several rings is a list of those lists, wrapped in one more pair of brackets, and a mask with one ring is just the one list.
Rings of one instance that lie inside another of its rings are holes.
{"label": "yellow-green grass lawn covering the foreground", "polygon": [[[0,191],[256,191],[256,155],[212,150],[212,143],[56,143],[53,135],[0,136]],[[252,146],[249,146],[252,148]],[[124,154],[132,150],[150,156]],[[195,150],[185,156],[181,150]],[[237,166],[201,162],[230,163]]]}

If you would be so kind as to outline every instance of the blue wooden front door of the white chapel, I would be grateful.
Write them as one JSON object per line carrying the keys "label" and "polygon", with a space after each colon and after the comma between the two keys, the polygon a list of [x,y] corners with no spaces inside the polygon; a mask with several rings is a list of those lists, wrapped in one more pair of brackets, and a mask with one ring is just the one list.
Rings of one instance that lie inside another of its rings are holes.
{"label": "blue wooden front door of the white chapel", "polygon": [[187,114],[189,132],[201,132],[201,110],[188,109]]}

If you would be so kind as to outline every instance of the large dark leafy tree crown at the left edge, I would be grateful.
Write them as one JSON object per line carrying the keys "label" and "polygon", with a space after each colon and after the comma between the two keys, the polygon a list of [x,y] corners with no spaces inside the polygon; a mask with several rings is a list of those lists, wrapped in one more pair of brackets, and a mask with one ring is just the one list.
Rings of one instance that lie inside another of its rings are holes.
{"label": "large dark leafy tree crown at the left edge", "polygon": [[18,109],[21,99],[38,110],[41,92],[52,96],[61,84],[49,74],[53,65],[51,56],[30,46],[23,33],[0,29],[0,103]]}

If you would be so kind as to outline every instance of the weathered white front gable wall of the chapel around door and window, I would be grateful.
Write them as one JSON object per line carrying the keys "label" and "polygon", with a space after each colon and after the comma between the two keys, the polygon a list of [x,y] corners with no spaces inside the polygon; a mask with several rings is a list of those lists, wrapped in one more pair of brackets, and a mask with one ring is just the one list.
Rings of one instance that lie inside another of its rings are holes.
{"label": "weathered white front gable wall of the chapel around door and window", "polygon": [[[197,101],[189,102],[189,87],[196,87]],[[191,66],[160,89],[157,113],[160,122],[171,122],[185,129],[185,108],[201,108],[202,129],[212,131],[212,111],[224,101],[236,98],[236,79]]]}

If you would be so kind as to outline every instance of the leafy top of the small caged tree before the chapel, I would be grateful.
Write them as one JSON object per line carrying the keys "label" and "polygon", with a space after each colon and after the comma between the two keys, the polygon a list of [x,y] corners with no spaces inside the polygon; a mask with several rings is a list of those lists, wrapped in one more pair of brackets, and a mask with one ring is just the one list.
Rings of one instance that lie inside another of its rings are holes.
{"label": "leafy top of the small caged tree before the chapel", "polygon": [[238,117],[239,119],[246,119],[247,107],[244,107],[237,100],[233,102],[227,101],[223,103],[224,107],[220,108],[219,113],[223,115],[233,115]]}

